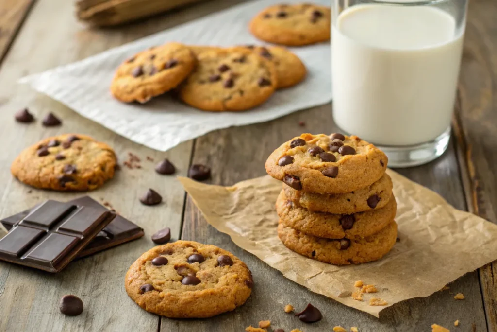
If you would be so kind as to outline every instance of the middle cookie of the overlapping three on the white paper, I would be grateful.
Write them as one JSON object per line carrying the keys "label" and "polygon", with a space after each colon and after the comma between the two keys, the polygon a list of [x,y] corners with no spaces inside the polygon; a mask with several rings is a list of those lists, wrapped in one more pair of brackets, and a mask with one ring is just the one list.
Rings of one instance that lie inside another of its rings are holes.
{"label": "middle cookie of the overlapping three on the white paper", "polygon": [[179,98],[204,111],[244,111],[265,102],[277,87],[274,64],[245,49],[213,49],[179,88]]}

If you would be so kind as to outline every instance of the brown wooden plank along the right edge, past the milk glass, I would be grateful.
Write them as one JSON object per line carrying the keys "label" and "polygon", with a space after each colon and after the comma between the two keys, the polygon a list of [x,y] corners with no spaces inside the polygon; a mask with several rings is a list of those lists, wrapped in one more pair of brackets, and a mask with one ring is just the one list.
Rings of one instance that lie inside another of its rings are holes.
{"label": "brown wooden plank along the right edge, past the milk glass", "polygon": [[[497,2],[470,1],[455,128],[469,211],[497,223]],[[479,270],[489,331],[497,331],[497,263]]]}

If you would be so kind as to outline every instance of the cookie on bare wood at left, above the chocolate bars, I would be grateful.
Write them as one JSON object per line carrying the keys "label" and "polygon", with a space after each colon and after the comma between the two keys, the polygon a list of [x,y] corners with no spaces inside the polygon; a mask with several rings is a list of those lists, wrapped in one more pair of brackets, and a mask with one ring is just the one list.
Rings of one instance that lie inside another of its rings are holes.
{"label": "cookie on bare wood at left, above the chocolate bars", "polygon": [[10,166],[27,185],[53,190],[93,190],[114,176],[112,148],[82,134],[48,137],[24,149]]}

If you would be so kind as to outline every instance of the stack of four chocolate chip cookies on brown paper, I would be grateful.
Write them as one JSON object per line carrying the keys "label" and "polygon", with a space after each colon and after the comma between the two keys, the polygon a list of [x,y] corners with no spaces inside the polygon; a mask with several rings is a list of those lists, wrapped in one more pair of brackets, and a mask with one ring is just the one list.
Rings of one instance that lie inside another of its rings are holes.
{"label": "stack of four chocolate chip cookies on brown paper", "polygon": [[278,236],[289,249],[345,265],[380,259],[397,239],[388,158],[357,136],[302,134],[266,161],[282,181]]}

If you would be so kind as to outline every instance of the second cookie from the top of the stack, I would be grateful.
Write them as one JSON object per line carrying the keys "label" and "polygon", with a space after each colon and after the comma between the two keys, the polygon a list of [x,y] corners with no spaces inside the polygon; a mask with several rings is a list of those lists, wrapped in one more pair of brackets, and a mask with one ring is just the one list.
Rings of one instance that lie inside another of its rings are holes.
{"label": "second cookie from the top of the stack", "polygon": [[386,173],[373,184],[345,194],[321,195],[295,190],[283,184],[286,198],[295,205],[304,207],[309,211],[333,214],[353,214],[381,209],[390,201],[392,188],[392,179]]}

